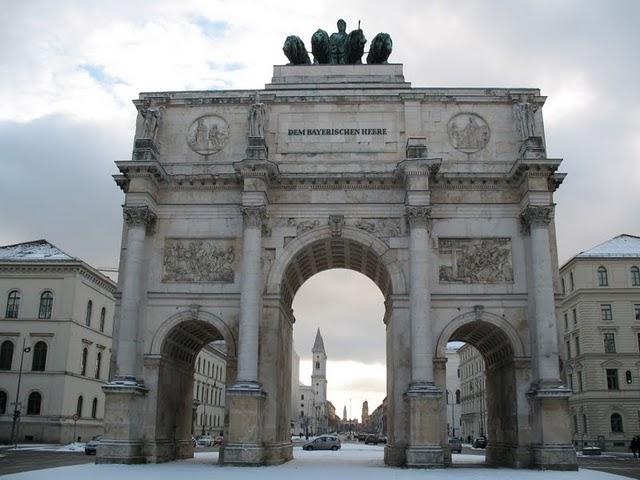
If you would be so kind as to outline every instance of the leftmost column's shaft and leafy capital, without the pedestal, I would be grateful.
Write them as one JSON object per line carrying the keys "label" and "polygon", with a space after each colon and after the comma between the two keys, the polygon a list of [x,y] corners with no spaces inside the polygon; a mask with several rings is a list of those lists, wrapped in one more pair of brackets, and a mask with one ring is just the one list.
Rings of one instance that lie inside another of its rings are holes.
{"label": "leftmost column's shaft and leafy capital, without the pedestal", "polygon": [[139,383],[142,365],[138,355],[139,312],[142,300],[144,244],[147,230],[152,228],[156,215],[149,207],[124,207],[124,221],[128,225],[125,271],[122,279],[120,325],[118,329],[117,382]]}

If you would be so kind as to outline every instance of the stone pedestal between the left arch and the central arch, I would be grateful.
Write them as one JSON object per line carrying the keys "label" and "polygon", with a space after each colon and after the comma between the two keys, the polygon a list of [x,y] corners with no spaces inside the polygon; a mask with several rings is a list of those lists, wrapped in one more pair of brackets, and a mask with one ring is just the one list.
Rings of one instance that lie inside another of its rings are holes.
{"label": "stone pedestal between the left arch and the central arch", "polygon": [[227,390],[229,435],[225,439],[220,463],[227,465],[265,463],[262,440],[265,398],[266,394],[260,388],[233,387]]}

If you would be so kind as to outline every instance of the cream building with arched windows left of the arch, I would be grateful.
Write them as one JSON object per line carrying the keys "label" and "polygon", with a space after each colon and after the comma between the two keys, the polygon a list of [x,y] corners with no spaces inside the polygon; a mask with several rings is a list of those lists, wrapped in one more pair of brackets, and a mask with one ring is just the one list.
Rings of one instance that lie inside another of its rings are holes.
{"label": "cream building with arched windows left of the arch", "polygon": [[0,441],[103,433],[115,290],[46,240],[0,247]]}

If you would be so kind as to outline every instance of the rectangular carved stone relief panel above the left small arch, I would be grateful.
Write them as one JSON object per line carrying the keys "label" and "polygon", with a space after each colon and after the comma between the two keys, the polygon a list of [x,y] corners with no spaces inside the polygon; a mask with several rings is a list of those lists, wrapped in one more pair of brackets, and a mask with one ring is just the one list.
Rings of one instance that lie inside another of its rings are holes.
{"label": "rectangular carved stone relief panel above the left small arch", "polygon": [[235,260],[233,240],[167,238],[162,281],[233,283]]}

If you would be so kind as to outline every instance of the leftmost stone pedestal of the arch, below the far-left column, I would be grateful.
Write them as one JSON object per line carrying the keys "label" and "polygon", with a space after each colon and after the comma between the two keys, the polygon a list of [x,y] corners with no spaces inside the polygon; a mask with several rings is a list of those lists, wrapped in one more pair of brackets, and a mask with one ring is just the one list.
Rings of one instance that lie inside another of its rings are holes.
{"label": "leftmost stone pedestal of the arch, below the far-left column", "polygon": [[98,445],[96,463],[145,463],[142,431],[147,389],[111,383],[103,390],[105,432]]}

